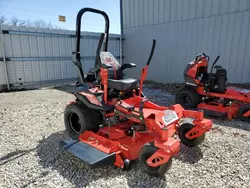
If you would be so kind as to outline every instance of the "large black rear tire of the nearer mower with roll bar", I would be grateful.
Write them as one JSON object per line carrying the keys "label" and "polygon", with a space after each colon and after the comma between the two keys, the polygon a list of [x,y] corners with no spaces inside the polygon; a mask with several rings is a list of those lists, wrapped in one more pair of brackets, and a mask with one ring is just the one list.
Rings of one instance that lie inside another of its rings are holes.
{"label": "large black rear tire of the nearer mower with roll bar", "polygon": [[97,132],[101,124],[100,113],[87,108],[81,102],[70,104],[64,111],[66,133],[74,140],[86,130]]}

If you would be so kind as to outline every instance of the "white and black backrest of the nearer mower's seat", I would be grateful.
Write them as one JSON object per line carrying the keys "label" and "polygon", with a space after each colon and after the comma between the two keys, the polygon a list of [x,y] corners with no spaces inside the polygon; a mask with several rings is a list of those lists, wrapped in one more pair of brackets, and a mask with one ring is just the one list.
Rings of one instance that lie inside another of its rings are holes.
{"label": "white and black backrest of the nearer mower's seat", "polygon": [[108,78],[122,79],[123,73],[121,70],[121,65],[110,52],[101,52],[100,58],[102,64],[112,66],[112,68],[108,68]]}

